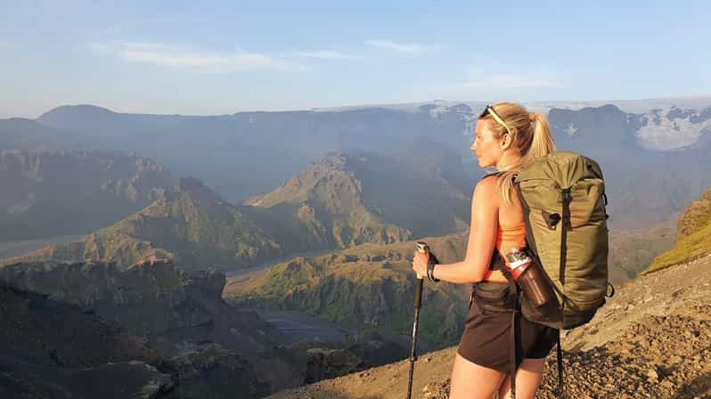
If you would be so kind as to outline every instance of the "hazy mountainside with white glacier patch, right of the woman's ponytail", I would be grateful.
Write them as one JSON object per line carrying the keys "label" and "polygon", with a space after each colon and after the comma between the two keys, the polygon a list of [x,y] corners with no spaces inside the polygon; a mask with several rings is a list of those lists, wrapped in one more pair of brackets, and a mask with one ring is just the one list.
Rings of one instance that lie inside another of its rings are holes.
{"label": "hazy mountainside with white glacier patch, right of the woman's ponytail", "polygon": [[600,162],[613,226],[661,223],[711,185],[711,107],[630,114],[606,105],[552,109],[549,118],[559,149]]}

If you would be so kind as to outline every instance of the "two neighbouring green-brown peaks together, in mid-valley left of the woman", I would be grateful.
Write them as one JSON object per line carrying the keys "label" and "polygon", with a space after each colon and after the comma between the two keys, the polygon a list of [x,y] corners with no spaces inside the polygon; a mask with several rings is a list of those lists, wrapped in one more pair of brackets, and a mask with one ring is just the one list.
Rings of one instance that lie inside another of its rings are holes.
{"label": "two neighbouring green-brown peaks together, in mid-valley left of the woman", "polygon": [[113,260],[125,267],[174,259],[188,269],[235,270],[292,254],[452,233],[468,225],[470,199],[457,187],[462,175],[461,163],[440,155],[413,165],[339,151],[244,205],[182,178],[134,215],[20,259]]}

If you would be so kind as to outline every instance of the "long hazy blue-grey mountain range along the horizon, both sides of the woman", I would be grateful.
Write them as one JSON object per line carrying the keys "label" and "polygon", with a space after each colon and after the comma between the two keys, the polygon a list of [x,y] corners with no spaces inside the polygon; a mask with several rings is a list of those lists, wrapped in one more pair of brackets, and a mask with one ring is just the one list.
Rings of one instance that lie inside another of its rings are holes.
{"label": "long hazy blue-grey mountain range along the horizon, both sides of the woman", "polygon": [[[427,102],[215,117],[123,114],[93,106],[65,106],[37,120],[76,132],[90,145],[149,154],[174,173],[196,175],[226,199],[241,200],[274,190],[329,151],[387,152],[401,147],[404,140],[420,137],[445,146],[478,171],[470,164],[469,146],[473,122],[483,105]],[[655,215],[680,211],[686,201],[700,195],[702,189],[688,181],[671,182],[674,194],[669,195],[640,187],[633,188],[629,197],[625,190],[642,175],[654,182],[658,172],[665,172],[661,163],[666,158],[659,157],[686,153],[711,141],[711,98],[546,102],[531,104],[531,108],[549,112],[560,149],[583,151],[600,160],[611,179],[614,223],[622,219],[632,220],[633,225],[656,223]],[[426,147],[415,148],[426,151]],[[706,157],[699,162],[708,164]],[[674,170],[674,174],[683,172],[683,168]],[[668,173],[663,177],[670,178]],[[658,203],[647,207],[643,199],[650,195],[658,197]],[[629,199],[617,201],[620,197]],[[632,206],[633,202],[642,203]]]}

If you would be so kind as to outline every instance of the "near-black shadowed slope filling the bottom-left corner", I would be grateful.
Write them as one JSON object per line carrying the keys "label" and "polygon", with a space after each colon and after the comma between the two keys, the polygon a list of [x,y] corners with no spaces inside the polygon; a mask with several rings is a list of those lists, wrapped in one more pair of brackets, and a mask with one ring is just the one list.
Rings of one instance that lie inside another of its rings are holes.
{"label": "near-black shadowed slope filling the bottom-left corner", "polygon": [[174,383],[156,351],[75,305],[0,285],[0,397],[158,397]]}

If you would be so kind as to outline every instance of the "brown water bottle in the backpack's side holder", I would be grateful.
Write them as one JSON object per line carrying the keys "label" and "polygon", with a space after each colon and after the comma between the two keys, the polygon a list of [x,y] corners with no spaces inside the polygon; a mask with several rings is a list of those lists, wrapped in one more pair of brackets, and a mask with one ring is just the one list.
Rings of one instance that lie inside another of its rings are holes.
{"label": "brown water bottle in the backpack's side holder", "polygon": [[533,260],[526,252],[513,248],[506,255],[511,268],[513,281],[519,284],[524,295],[535,305],[541,307],[552,301],[551,286],[545,280],[543,273],[533,265]]}

